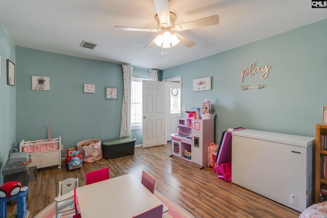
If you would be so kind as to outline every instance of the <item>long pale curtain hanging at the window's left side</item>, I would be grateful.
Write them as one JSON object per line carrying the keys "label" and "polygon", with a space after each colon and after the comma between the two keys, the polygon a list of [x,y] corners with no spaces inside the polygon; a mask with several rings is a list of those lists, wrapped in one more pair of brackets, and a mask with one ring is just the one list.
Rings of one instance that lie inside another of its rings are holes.
{"label": "long pale curtain hanging at the window's left side", "polygon": [[122,106],[122,120],[120,138],[131,136],[131,87],[133,67],[130,65],[122,65],[124,77],[124,96]]}

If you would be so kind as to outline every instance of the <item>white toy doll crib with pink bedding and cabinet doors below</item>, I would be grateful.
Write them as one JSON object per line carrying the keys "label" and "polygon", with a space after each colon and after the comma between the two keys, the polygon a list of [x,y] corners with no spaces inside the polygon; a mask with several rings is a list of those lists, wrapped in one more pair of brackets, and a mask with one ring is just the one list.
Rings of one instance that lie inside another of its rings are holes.
{"label": "white toy doll crib with pink bedding and cabinet doors below", "polygon": [[61,168],[61,137],[24,141],[19,143],[19,152],[26,152],[31,155],[32,163],[30,167],[43,168],[58,165]]}

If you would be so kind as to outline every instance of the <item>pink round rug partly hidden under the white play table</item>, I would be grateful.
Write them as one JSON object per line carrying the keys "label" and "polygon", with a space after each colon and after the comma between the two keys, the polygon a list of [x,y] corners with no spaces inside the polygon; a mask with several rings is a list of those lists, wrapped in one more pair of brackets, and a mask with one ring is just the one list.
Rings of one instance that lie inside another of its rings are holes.
{"label": "pink round rug partly hidden under the white play table", "polygon": [[[168,208],[168,212],[164,213],[162,217],[164,218],[194,218],[194,216],[187,210],[185,210],[183,207],[181,207],[176,202],[172,201],[171,199],[167,198],[164,194],[161,192],[155,190],[154,195],[160,199],[162,203],[164,203]],[[56,214],[56,205],[55,202],[52,202],[50,205],[45,207],[43,210],[41,210],[35,218],[53,218]],[[61,217],[63,218],[72,218],[74,213],[63,215]]]}

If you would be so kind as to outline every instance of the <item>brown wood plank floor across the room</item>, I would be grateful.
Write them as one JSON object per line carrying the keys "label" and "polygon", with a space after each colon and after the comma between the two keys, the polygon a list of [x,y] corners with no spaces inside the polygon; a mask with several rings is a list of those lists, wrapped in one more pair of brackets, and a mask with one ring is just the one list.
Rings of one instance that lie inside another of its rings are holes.
{"label": "brown wood plank floor across the room", "polygon": [[[30,182],[27,209],[34,217],[58,195],[58,182],[65,178],[79,179],[85,185],[85,173],[109,167],[110,178],[131,173],[141,181],[142,171],[156,178],[155,189],[198,217],[298,217],[299,212],[264,198],[231,182],[217,178],[212,168],[199,169],[177,157],[170,157],[171,144],[135,149],[135,154],[114,159],[83,163],[82,168],[68,171],[62,168],[39,169],[37,181]],[[122,187],[124,188],[124,187]],[[108,196],[110,198],[110,196]],[[8,206],[8,213],[16,205]]]}

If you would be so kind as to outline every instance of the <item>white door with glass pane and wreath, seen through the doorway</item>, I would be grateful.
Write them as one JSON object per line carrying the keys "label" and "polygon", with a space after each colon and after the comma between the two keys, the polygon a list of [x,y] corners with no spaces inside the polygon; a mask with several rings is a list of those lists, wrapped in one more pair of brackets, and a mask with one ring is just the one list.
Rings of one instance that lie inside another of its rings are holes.
{"label": "white door with glass pane and wreath, seen through the doorway", "polygon": [[181,116],[181,85],[176,82],[166,82],[166,141],[170,134],[176,133],[177,117]]}

